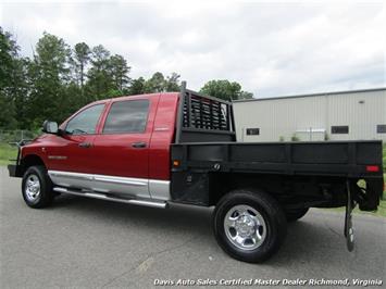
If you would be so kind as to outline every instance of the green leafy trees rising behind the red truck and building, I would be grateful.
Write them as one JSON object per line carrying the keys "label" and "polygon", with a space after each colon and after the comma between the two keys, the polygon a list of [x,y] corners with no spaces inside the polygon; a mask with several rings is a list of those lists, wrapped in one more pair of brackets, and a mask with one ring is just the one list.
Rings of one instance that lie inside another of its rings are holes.
{"label": "green leafy trees rising behind the red truck and building", "polygon": [[[0,27],[0,129],[41,127],[45,120],[64,121],[85,104],[100,99],[178,91],[179,74],[130,78],[132,67],[102,45],[70,47],[43,33],[33,56],[22,56],[9,32]],[[222,99],[252,98],[236,81],[210,80],[200,92]]]}

